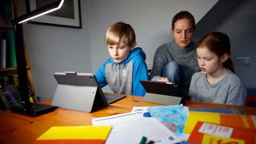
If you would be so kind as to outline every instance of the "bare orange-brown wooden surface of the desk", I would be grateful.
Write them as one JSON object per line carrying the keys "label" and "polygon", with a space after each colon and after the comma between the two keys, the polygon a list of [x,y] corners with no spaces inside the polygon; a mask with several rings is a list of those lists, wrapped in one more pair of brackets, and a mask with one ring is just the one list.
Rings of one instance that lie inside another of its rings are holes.
{"label": "bare orange-brown wooden surface of the desk", "polygon": [[[133,106],[159,106],[151,102],[143,102],[143,97],[127,96],[94,113],[83,113],[74,110],[58,108],[49,114],[30,118],[14,114],[10,110],[0,112],[0,143],[30,143],[51,126],[85,126],[91,125],[91,118],[105,117],[114,114],[130,112]],[[50,101],[45,103],[50,104]],[[246,114],[256,115],[256,108],[245,106],[226,106],[218,104],[205,104],[186,102],[189,107],[216,107],[216,108],[242,108]]]}

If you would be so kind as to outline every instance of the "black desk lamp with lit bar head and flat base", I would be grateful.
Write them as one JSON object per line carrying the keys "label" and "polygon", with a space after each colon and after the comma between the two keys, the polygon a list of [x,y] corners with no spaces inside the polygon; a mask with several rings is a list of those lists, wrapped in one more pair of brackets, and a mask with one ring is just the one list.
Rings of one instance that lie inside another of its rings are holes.
{"label": "black desk lamp with lit bar head and flat base", "polygon": [[[56,2],[50,3],[49,5],[42,6],[41,8],[38,8],[18,18],[13,19],[18,84],[19,84],[18,88],[20,91],[20,98],[22,103],[21,107],[14,108],[15,112],[36,116],[40,114],[45,114],[57,108],[56,106],[43,105],[37,102],[30,102],[27,71],[26,71],[26,58],[25,58],[24,42],[23,42],[22,22],[26,22],[33,18],[38,18],[44,14],[48,14],[54,10],[58,10],[61,8],[63,2],[64,0],[58,0]],[[34,108],[31,108],[31,107],[34,107]],[[32,110],[32,109],[36,109],[36,110]]]}

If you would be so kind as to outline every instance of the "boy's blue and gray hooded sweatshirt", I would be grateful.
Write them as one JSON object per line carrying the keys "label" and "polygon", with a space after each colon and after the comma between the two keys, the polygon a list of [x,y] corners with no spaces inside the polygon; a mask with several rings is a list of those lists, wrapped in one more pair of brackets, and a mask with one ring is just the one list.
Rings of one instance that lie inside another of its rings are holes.
{"label": "boy's blue and gray hooded sweatshirt", "polygon": [[146,91],[140,80],[148,80],[145,60],[142,48],[136,47],[121,63],[108,58],[98,68],[95,77],[101,87],[109,85],[114,93],[144,96]]}

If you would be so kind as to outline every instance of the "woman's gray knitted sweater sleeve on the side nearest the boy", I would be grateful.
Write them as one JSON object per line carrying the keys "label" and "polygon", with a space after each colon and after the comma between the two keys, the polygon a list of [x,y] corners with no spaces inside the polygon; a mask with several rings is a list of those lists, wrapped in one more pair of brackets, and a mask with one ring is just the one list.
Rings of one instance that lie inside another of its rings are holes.
{"label": "woman's gray knitted sweater sleeve on the side nearest the boy", "polygon": [[155,76],[161,76],[162,67],[168,63],[168,59],[166,58],[167,51],[163,46],[159,46],[158,50],[156,50],[154,54],[153,67],[150,72],[150,79]]}

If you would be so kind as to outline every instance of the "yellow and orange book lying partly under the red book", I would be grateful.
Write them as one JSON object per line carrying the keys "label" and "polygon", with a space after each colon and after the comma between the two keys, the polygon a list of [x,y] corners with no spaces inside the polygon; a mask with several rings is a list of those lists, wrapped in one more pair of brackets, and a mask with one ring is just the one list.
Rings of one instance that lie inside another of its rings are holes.
{"label": "yellow and orange book lying partly under the red book", "polygon": [[190,134],[197,122],[210,122],[223,126],[236,126],[256,130],[256,116],[242,114],[221,114],[210,112],[190,111],[186,121],[184,134]]}

